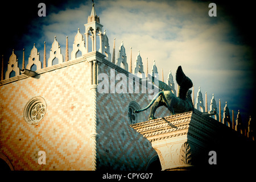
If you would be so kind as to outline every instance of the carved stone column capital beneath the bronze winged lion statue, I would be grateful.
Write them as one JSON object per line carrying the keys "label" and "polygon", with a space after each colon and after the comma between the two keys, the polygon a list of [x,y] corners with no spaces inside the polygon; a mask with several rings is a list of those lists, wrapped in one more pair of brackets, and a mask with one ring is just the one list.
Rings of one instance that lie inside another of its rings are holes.
{"label": "carved stone column capital beneath the bronze winged lion statue", "polygon": [[204,151],[212,142],[219,125],[195,109],[130,126],[151,142],[162,170],[185,170],[193,167],[194,153]]}

